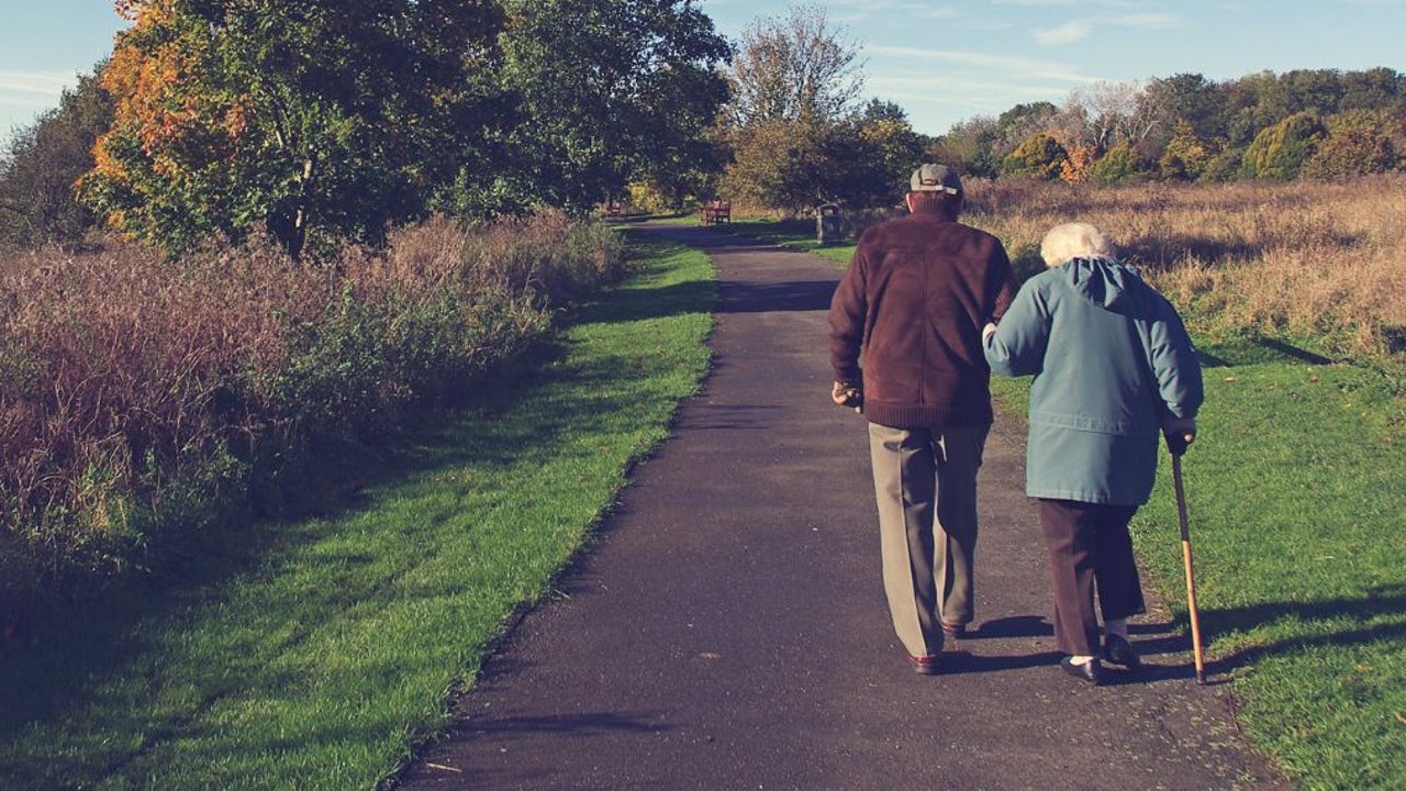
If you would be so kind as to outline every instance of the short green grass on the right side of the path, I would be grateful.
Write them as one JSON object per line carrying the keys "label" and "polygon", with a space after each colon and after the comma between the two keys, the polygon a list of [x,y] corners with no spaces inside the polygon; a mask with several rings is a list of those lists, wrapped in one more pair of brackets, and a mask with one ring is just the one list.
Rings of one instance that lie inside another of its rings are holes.
{"label": "short green grass on the right side of the path", "polygon": [[[776,224],[756,235],[811,245]],[[1212,680],[1232,680],[1241,726],[1303,788],[1406,788],[1406,363],[1331,365],[1251,332],[1197,341],[1206,404],[1184,476]],[[1029,379],[993,393],[1025,415]],[[1135,540],[1189,632],[1161,464]]]}

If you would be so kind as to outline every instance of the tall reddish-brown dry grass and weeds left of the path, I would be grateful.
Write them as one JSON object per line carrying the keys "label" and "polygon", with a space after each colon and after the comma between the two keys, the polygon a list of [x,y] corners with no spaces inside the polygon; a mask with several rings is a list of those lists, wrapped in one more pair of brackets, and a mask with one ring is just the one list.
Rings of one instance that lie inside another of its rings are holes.
{"label": "tall reddish-brown dry grass and weeds left of the path", "polygon": [[623,267],[557,214],[434,220],[318,266],[271,243],[0,259],[0,626],[160,555],[270,455],[454,398]]}

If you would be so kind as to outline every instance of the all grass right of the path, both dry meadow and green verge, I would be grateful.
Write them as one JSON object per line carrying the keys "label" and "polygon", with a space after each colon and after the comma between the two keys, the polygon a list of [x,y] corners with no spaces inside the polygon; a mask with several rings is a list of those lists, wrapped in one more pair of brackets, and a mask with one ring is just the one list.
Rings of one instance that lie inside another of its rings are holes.
{"label": "all grass right of the path, both dry meadow and green verge", "polygon": [[[1406,787],[1406,187],[1001,190],[973,190],[967,220],[1018,269],[1035,270],[1047,228],[1091,220],[1192,328],[1208,390],[1184,464],[1198,605],[1244,730],[1303,788]],[[735,229],[815,248],[797,225]],[[852,251],[817,249],[837,266]],[[1025,414],[1028,379],[993,386]],[[1163,455],[1135,540],[1187,631],[1177,521]]]}

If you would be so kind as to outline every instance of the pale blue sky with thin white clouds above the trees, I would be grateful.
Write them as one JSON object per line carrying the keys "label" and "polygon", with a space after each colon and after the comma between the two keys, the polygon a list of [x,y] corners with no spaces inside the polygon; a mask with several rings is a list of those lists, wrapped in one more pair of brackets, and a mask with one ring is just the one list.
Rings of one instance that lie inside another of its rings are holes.
{"label": "pale blue sky with thin white clouds above the trees", "polygon": [[[738,38],[789,0],[700,0]],[[1406,0],[830,0],[831,27],[865,59],[866,94],[942,134],[1028,101],[1063,103],[1099,82],[1197,72],[1211,80],[1292,69],[1406,72]],[[6,0],[0,138],[58,103],[111,52],[107,0]]]}

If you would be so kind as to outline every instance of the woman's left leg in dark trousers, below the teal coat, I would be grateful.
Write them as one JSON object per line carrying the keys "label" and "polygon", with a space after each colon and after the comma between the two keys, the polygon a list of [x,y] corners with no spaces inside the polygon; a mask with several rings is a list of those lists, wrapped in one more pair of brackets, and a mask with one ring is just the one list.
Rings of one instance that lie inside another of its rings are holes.
{"label": "woman's left leg in dark trousers, below the teal coat", "polygon": [[1054,639],[1070,656],[1098,656],[1094,614],[1094,550],[1088,507],[1067,500],[1039,500],[1040,529],[1054,587]]}

